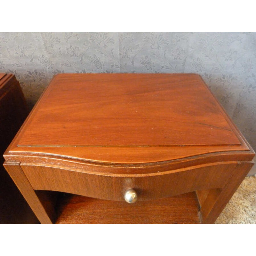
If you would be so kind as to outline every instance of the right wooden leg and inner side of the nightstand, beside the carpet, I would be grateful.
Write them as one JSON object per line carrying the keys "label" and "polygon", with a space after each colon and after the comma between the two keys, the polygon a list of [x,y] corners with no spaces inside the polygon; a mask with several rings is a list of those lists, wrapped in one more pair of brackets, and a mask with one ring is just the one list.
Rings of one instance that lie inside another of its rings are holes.
{"label": "right wooden leg and inner side of the nightstand, beside the carpet", "polygon": [[215,222],[230,198],[236,192],[236,189],[252,168],[252,165],[253,161],[238,163],[224,188],[196,192],[201,206],[199,215],[202,223],[211,224]]}

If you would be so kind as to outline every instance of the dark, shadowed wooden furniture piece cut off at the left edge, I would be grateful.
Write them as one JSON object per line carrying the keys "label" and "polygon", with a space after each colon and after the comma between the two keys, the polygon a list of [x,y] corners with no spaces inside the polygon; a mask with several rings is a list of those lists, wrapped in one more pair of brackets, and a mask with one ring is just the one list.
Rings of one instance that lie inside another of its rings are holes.
{"label": "dark, shadowed wooden furniture piece cut off at the left edge", "polygon": [[4,150],[28,116],[19,82],[12,74],[0,73],[0,223],[37,223],[19,189],[5,171]]}

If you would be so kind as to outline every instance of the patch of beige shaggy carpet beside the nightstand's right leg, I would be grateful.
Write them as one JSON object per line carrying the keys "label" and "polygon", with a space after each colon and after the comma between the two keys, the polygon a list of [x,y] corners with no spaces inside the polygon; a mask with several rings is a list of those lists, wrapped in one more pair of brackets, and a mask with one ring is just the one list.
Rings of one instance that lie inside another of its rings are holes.
{"label": "patch of beige shaggy carpet beside the nightstand's right leg", "polygon": [[215,224],[256,224],[256,176],[244,179]]}

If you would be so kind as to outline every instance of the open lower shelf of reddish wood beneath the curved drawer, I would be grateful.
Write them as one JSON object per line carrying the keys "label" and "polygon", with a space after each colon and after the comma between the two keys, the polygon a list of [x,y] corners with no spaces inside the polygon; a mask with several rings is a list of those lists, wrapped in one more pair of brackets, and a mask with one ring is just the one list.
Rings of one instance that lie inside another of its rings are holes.
{"label": "open lower shelf of reddish wood beneath the curved drawer", "polygon": [[57,224],[197,224],[196,193],[134,204],[64,194],[58,202]]}

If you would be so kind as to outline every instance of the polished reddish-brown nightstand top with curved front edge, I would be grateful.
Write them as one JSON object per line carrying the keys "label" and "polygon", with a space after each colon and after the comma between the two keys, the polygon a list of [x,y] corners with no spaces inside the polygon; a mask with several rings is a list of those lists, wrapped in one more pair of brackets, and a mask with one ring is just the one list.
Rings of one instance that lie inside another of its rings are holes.
{"label": "polished reddish-brown nightstand top with curved front edge", "polygon": [[241,136],[197,74],[59,74],[11,151],[142,163],[249,150]]}

